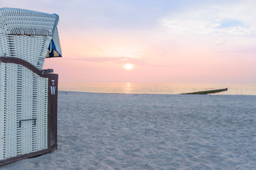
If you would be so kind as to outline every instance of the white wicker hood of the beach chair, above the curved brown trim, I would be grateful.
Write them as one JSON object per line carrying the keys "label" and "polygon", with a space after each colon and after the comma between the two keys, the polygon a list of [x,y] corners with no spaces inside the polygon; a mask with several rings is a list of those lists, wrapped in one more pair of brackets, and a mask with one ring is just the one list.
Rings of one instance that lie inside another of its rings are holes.
{"label": "white wicker hood of the beach chair, above the curved brown trim", "polygon": [[57,14],[0,8],[0,56],[18,57],[43,68]]}

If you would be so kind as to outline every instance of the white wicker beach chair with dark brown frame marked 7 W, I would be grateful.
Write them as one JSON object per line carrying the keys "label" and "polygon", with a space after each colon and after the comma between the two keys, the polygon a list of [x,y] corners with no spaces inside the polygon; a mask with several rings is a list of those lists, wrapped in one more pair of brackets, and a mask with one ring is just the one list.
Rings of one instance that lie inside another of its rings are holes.
{"label": "white wicker beach chair with dark brown frame marked 7 W", "polygon": [[58,74],[42,70],[56,48],[57,24],[56,14],[0,8],[0,164],[57,147],[49,112],[57,112],[50,100],[57,98]]}

